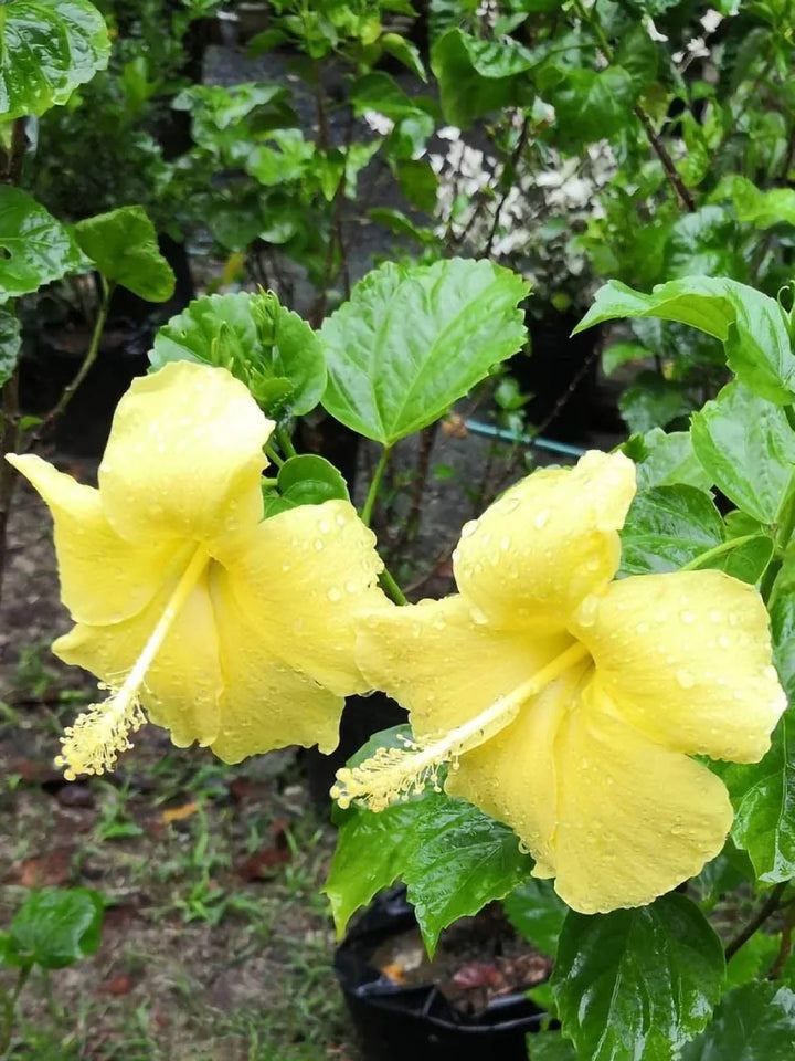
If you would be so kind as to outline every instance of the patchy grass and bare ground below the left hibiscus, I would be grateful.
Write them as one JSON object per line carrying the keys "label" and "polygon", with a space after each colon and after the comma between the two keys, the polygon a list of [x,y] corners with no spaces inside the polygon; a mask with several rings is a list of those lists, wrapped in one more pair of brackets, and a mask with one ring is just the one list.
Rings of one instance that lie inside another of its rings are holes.
{"label": "patchy grass and bare ground below the left hibiscus", "polygon": [[[295,755],[229,768],[148,727],[117,776],[93,778],[85,805],[64,806],[49,765],[75,694],[53,695],[53,681],[31,652],[14,683],[20,706],[0,712],[0,864],[12,868],[0,928],[26,894],[20,873],[39,863],[42,883],[96,887],[108,910],[99,952],[53,975],[51,1002],[31,978],[9,1057],[354,1061],[320,893],[333,834]],[[246,860],[276,845],[286,853],[250,880]]]}

